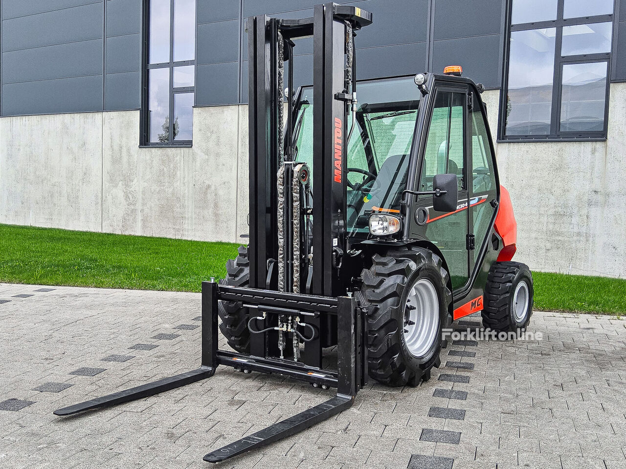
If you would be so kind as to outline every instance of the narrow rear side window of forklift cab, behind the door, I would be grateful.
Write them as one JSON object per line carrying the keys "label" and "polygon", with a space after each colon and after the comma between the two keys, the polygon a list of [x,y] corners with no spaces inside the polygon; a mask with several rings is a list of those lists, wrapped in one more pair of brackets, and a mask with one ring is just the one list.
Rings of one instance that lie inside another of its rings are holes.
{"label": "narrow rear side window of forklift cab, behind the door", "polygon": [[476,194],[494,189],[496,178],[493,174],[489,136],[480,109],[471,113],[471,124],[471,178],[472,191]]}

